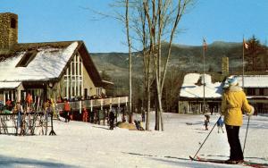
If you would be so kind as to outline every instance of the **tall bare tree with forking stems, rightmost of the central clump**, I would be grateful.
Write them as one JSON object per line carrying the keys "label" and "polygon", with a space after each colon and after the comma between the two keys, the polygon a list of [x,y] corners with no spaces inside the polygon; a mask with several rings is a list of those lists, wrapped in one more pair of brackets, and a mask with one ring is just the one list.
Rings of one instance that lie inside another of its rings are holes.
{"label": "tall bare tree with forking stems, rightmost of the central clump", "polygon": [[[161,122],[161,129],[163,129],[163,106],[162,106],[162,92],[163,92],[163,83],[169,63],[169,58],[172,51],[172,40],[176,34],[176,29],[180,22],[181,17],[185,13],[186,8],[189,4],[192,4],[192,0],[178,0],[178,4],[172,8],[171,0],[158,0],[155,3],[155,0],[144,0],[144,9],[147,16],[147,24],[150,29],[150,50],[151,54],[155,59],[155,81],[156,81],[156,90],[158,98],[158,108]],[[172,18],[172,15],[175,14],[175,18]],[[165,29],[171,26],[171,31],[166,31],[169,34],[169,46],[168,54],[162,62],[161,55],[161,41],[163,38],[163,32]],[[157,38],[157,39],[156,39]],[[162,71],[163,66],[163,71]],[[157,124],[159,121],[155,121]],[[157,126],[157,125],[156,125]]]}

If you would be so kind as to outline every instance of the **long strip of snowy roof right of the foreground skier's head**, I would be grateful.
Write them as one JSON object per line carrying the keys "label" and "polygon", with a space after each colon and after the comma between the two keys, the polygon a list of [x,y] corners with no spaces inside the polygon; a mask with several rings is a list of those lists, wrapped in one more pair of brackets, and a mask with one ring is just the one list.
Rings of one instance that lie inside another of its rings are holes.
{"label": "long strip of snowy roof right of the foreground skier's head", "polygon": [[[230,76],[229,78],[233,78]],[[236,76],[239,80],[239,86],[243,85],[242,76]],[[227,81],[224,83],[224,88],[228,87]],[[268,75],[244,75],[244,88],[268,88]]]}

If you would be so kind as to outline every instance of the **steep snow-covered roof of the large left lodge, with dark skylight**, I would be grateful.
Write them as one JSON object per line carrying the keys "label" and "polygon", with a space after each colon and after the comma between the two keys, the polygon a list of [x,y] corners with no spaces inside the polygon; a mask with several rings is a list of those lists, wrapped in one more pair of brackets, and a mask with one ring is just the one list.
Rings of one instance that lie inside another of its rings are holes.
{"label": "steep snow-covered roof of the large left lodge, with dark skylight", "polygon": [[58,78],[70,60],[77,41],[66,47],[44,46],[36,49],[36,55],[30,63],[23,67],[17,66],[21,62],[26,51],[20,51],[0,62],[0,81],[25,81],[25,80],[49,80]]}

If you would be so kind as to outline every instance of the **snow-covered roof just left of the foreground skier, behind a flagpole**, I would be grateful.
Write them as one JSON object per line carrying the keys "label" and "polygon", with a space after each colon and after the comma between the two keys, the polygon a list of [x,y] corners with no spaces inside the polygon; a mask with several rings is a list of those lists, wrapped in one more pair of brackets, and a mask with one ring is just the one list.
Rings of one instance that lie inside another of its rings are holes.
{"label": "snow-covered roof just left of the foreground skier, behind a flagpole", "polygon": [[[185,75],[180,89],[180,97],[203,98],[203,76],[204,74],[199,73],[188,73]],[[198,81],[200,82],[199,84]],[[218,97],[222,97],[222,82],[212,83],[211,75],[205,74],[205,98]]]}

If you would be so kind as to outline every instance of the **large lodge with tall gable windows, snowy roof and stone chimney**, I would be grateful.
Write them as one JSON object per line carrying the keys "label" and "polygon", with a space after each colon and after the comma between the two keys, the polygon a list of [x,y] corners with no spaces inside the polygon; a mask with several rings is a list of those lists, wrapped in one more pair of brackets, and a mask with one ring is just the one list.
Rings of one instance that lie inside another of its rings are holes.
{"label": "large lodge with tall gable windows, snowy roof and stone chimney", "polygon": [[0,13],[0,74],[3,103],[20,102],[27,93],[33,101],[104,97],[105,87],[113,85],[101,79],[83,41],[18,43],[14,13]]}

